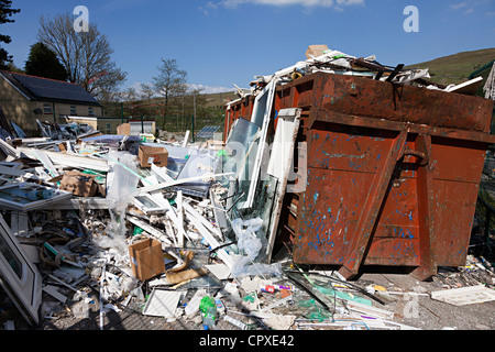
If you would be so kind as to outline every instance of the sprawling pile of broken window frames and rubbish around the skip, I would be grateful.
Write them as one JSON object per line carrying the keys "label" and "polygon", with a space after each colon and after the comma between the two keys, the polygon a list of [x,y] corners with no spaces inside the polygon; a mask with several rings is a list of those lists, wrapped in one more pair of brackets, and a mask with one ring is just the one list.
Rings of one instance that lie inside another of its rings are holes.
{"label": "sprawling pile of broken window frames and rubbish around the skip", "polygon": [[[103,329],[108,311],[130,310],[197,329],[414,329],[385,307],[407,293],[298,265],[289,244],[274,253],[286,188],[297,187],[288,178],[300,110],[277,111],[262,169],[270,102],[277,84],[315,69],[428,84],[425,70],[331,52],[258,77],[252,94],[266,94],[267,103],[253,123],[237,120],[226,143],[148,143],[47,132],[46,124],[41,143],[19,134],[0,140],[0,222],[3,242],[11,242],[10,267],[0,274],[26,320],[97,314]],[[439,289],[482,285],[493,294],[493,267],[470,260],[441,272]],[[32,274],[24,286],[23,264]],[[40,288],[31,289],[36,297],[26,296],[30,287]]]}

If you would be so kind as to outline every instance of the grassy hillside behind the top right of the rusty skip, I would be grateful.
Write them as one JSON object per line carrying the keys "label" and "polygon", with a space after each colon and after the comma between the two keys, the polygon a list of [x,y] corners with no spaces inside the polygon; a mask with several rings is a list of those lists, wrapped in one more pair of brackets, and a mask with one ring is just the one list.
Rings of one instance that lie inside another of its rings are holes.
{"label": "grassy hillside behind the top right of the rusty skip", "polygon": [[429,68],[432,81],[441,85],[466,81],[476,69],[495,59],[495,47],[463,52],[408,67]]}

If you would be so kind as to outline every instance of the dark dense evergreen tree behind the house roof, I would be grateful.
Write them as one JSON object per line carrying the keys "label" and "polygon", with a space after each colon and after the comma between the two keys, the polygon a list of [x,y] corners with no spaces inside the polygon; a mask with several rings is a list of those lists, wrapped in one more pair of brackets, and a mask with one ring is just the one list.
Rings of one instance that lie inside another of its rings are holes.
{"label": "dark dense evergreen tree behind the house roof", "polygon": [[57,55],[40,42],[31,45],[24,70],[28,75],[58,80],[67,80],[68,76]]}

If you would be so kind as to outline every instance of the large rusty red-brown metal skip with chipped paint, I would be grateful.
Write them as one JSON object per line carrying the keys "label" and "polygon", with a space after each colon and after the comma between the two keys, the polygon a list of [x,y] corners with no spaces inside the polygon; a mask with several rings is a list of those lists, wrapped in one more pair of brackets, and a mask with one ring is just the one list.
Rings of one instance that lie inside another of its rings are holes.
{"label": "large rusty red-brown metal skip with chipped paint", "polygon": [[[363,77],[311,74],[277,88],[300,108],[306,190],[286,194],[278,238],[296,263],[406,266],[419,279],[465,264],[493,101]],[[248,118],[250,98],[226,129]]]}

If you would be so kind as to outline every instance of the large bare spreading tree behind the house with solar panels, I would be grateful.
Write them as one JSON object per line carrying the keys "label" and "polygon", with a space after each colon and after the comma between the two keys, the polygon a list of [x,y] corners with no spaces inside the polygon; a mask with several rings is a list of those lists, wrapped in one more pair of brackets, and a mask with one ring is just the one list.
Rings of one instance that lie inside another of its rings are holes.
{"label": "large bare spreading tree behind the house with solar panels", "polygon": [[72,14],[40,18],[40,42],[56,53],[70,82],[80,85],[95,97],[108,95],[127,79],[127,73],[112,62],[113,50],[95,23],[87,32],[76,32]]}

